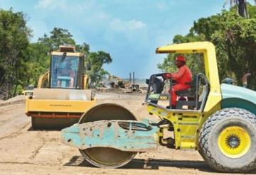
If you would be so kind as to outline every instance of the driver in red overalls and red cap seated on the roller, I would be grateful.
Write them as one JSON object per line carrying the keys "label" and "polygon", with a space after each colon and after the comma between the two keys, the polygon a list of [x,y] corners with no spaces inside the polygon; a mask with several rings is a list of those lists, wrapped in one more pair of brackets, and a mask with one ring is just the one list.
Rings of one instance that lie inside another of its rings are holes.
{"label": "driver in red overalls and red cap seated on the roller", "polygon": [[173,109],[176,108],[176,91],[189,89],[191,87],[189,84],[192,81],[192,73],[186,66],[185,57],[181,55],[176,57],[176,67],[178,67],[178,72],[164,74],[165,79],[170,79],[172,77],[172,79],[176,80],[176,84],[169,90],[169,93],[171,94],[171,108]]}

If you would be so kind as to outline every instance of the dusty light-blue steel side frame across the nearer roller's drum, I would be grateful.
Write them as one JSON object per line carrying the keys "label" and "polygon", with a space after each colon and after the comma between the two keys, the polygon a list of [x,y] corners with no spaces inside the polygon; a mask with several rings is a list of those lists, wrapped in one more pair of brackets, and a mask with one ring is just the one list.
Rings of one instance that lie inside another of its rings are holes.
{"label": "dusty light-blue steel side frame across the nearer roller's drum", "polygon": [[61,131],[61,140],[78,149],[111,147],[127,152],[157,149],[159,128],[134,120],[99,120]]}

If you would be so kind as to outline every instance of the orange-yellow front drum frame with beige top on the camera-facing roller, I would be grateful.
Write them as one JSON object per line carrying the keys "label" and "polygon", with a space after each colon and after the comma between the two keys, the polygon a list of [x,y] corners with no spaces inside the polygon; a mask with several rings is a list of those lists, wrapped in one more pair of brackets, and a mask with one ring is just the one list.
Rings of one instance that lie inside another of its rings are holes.
{"label": "orange-yellow front drum frame with beige top on the camera-facing roller", "polygon": [[43,118],[56,118],[57,113],[63,113],[66,118],[80,118],[95,103],[86,89],[35,89],[33,98],[26,99],[26,113]]}

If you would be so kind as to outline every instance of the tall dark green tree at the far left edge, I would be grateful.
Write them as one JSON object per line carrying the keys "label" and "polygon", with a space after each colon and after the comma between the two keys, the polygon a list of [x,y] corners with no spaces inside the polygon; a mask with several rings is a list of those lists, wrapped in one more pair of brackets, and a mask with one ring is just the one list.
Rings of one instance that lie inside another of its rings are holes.
{"label": "tall dark green tree at the far left edge", "polygon": [[0,91],[5,98],[16,94],[31,30],[22,12],[0,9]]}

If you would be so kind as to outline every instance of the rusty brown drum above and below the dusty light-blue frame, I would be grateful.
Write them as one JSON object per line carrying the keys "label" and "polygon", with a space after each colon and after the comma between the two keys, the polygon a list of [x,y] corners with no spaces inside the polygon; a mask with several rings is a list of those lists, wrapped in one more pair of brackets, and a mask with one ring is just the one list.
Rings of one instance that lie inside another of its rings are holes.
{"label": "rusty brown drum above and below the dusty light-blue frame", "polygon": [[[127,108],[113,103],[104,103],[87,111],[78,123],[97,120],[137,120],[137,118]],[[80,152],[87,162],[102,168],[118,168],[130,162],[137,154],[137,152],[124,152],[110,147],[80,149]]]}

